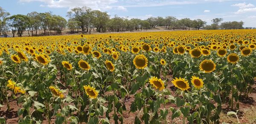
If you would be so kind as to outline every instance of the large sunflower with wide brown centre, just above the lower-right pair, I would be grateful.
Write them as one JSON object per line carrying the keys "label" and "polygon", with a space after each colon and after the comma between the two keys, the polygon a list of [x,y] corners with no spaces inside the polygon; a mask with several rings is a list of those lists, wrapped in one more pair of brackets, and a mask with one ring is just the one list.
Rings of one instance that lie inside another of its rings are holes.
{"label": "large sunflower with wide brown centre, just above the lower-right pair", "polygon": [[212,60],[204,60],[200,63],[200,70],[204,71],[204,73],[210,73],[215,70],[216,65]]}

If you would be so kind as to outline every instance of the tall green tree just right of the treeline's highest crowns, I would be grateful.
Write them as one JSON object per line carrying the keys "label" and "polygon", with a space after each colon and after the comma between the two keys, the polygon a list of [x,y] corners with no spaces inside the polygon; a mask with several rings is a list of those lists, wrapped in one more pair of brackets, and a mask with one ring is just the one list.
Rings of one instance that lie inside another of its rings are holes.
{"label": "tall green tree just right of the treeline's highest crowns", "polygon": [[93,11],[93,25],[98,32],[105,32],[107,22],[109,20],[109,15],[107,12],[102,12],[99,10]]}

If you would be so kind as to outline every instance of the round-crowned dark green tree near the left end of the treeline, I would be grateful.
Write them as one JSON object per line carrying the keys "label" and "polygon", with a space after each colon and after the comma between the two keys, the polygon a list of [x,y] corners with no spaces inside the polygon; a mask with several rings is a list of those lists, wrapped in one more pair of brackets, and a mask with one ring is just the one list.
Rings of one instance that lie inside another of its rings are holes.
{"label": "round-crowned dark green tree near the left end of the treeline", "polygon": [[23,34],[23,31],[29,26],[30,19],[26,15],[17,14],[8,17],[9,26],[15,28],[19,37]]}

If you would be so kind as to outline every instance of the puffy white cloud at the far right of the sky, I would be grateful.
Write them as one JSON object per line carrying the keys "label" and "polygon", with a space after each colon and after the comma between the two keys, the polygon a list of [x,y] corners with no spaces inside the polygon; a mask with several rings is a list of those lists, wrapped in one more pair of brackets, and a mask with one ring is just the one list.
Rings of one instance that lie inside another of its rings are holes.
{"label": "puffy white cloud at the far right of the sky", "polygon": [[239,10],[236,11],[235,14],[242,14],[242,13],[256,11],[256,7],[253,4],[251,4],[251,3],[249,3],[249,4],[246,4],[246,3],[236,3],[236,4],[233,4],[231,6],[239,7]]}

